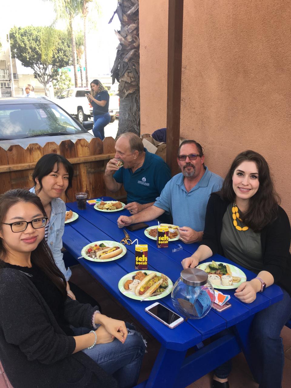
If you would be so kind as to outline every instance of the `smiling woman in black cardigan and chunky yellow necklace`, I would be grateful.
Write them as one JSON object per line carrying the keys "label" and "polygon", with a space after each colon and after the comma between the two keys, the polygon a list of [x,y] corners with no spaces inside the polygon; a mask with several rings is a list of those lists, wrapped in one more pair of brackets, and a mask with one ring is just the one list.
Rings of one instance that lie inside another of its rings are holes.
{"label": "smiling woman in black cardigan and chunky yellow necklace", "polygon": [[[251,330],[255,379],[260,388],[280,388],[284,352],[280,333],[291,317],[289,277],[291,230],[279,206],[268,164],[262,155],[245,151],[237,155],[222,190],[208,201],[201,245],[182,261],[184,268],[219,253],[257,274],[242,283],[235,296],[251,303],[257,292],[272,284],[282,288],[283,299],[257,313]],[[213,388],[228,388],[230,362],[215,370]]]}

